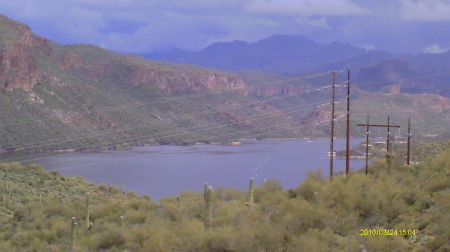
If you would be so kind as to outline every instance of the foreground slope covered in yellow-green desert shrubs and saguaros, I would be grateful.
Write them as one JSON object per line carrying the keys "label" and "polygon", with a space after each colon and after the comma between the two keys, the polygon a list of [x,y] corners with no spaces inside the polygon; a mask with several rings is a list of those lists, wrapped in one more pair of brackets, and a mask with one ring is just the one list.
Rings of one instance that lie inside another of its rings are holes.
{"label": "foreground slope covered in yellow-green desert shrubs and saguaros", "polygon": [[449,250],[449,150],[411,167],[394,163],[391,174],[377,161],[369,175],[331,182],[313,172],[287,191],[269,180],[255,188],[254,204],[246,204],[247,192],[215,188],[209,229],[203,194],[153,202],[38,166],[1,164],[0,185],[8,189],[0,204],[0,249],[67,251],[75,217],[74,251]]}

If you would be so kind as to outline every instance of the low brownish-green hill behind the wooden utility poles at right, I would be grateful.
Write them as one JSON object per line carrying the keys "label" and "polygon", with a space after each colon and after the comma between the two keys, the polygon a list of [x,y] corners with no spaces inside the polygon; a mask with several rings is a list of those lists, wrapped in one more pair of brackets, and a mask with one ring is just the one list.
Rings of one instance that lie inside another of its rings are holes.
{"label": "low brownish-green hill behind the wooden utility poles at right", "polygon": [[[411,127],[415,140],[424,137],[437,138],[441,134],[450,133],[450,99],[436,94],[382,94],[361,93],[355,95],[351,103],[351,133],[354,137],[364,138],[365,128],[358,130],[356,124],[365,123],[367,115],[370,122],[386,124],[387,116],[390,116],[391,124],[399,125],[400,131],[395,129],[395,136],[406,136],[408,117],[411,117]],[[345,136],[346,103],[336,106],[336,134]],[[329,130],[329,125],[317,125],[317,122],[330,120],[330,107],[315,108],[302,123]],[[385,137],[386,129],[373,128],[371,137]],[[439,140],[439,139],[436,139]]]}

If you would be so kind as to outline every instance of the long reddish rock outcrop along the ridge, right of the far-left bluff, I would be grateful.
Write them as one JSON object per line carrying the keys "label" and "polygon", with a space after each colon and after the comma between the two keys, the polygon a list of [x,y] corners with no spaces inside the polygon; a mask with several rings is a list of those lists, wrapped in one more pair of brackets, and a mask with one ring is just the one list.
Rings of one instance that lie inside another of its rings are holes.
{"label": "long reddish rock outcrop along the ridge, right of the far-left bluff", "polygon": [[[111,52],[112,53],[112,52]],[[90,81],[114,76],[128,87],[153,84],[167,92],[236,91],[248,94],[244,80],[233,74],[199,67],[159,66],[136,56],[120,55],[113,61],[98,61],[87,65],[80,55],[72,53],[58,57],[62,66]]]}

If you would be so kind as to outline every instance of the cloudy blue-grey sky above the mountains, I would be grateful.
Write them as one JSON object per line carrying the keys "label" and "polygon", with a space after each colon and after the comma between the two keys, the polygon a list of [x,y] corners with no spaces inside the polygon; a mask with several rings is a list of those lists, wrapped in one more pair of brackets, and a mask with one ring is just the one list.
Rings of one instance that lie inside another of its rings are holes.
{"label": "cloudy blue-grey sky above the mountains", "polygon": [[398,54],[450,49],[450,0],[0,0],[0,14],[61,44],[120,53],[275,34]]}

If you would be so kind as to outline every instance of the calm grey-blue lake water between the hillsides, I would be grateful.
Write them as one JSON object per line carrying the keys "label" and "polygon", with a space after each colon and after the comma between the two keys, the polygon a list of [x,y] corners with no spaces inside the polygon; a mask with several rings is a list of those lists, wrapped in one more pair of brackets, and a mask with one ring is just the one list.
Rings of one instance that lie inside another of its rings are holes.
{"label": "calm grey-blue lake water between the hillsides", "polygon": [[[352,139],[356,145],[359,139]],[[48,171],[81,175],[94,183],[123,183],[126,190],[149,194],[153,200],[177,195],[180,191],[203,191],[207,182],[213,188],[248,189],[255,178],[281,180],[295,188],[310,170],[329,173],[329,140],[244,141],[239,146],[149,146],[121,151],[14,156],[3,155],[3,162],[37,163]],[[335,150],[345,149],[345,139],[335,140]],[[24,161],[29,160],[32,161]],[[364,167],[365,161],[351,160],[351,168]],[[345,160],[334,161],[335,172],[345,170]]]}

